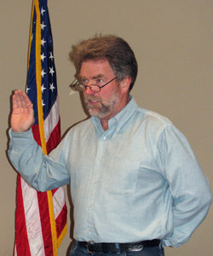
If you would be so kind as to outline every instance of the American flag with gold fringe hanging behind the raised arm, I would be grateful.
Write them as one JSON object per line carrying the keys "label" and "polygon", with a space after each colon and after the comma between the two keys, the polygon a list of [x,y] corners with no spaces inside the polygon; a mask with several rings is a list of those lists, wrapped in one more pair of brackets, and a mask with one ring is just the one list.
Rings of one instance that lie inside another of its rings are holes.
{"label": "American flag with gold fringe hanging behind the raised arm", "polygon": [[[33,136],[49,154],[60,142],[60,114],[47,0],[32,1],[26,93],[35,113]],[[19,175],[14,256],[56,256],[66,235],[66,213],[64,188],[37,192]]]}

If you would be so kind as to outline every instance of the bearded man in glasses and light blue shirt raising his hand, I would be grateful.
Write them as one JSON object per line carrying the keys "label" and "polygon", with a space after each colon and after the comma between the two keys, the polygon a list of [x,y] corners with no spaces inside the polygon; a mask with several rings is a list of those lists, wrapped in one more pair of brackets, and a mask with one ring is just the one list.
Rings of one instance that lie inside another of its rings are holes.
{"label": "bearded man in glasses and light blue shirt raising his hand", "polygon": [[72,47],[71,59],[72,89],[83,91],[91,118],[45,156],[30,129],[32,103],[17,90],[9,157],[35,189],[71,184],[71,255],[164,255],[162,246],[180,246],[203,221],[209,184],[181,132],[130,96],[137,63],[129,44],[91,38]]}

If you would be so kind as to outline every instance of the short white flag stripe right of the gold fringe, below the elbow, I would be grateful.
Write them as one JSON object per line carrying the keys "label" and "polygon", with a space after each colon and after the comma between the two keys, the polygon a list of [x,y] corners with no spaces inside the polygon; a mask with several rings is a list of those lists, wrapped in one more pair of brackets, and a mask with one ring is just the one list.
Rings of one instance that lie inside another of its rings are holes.
{"label": "short white flag stripe right of the gold fringe, below the elbow", "polygon": [[53,205],[56,219],[65,205],[65,190],[63,187],[60,187],[55,191],[55,194],[53,195]]}

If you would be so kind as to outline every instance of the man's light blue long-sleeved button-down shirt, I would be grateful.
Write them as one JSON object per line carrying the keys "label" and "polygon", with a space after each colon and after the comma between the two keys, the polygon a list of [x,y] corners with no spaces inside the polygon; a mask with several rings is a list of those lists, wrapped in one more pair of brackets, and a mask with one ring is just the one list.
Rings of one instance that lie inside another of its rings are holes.
{"label": "man's light blue long-sleeved button-down shirt", "polygon": [[138,108],[132,98],[104,131],[92,117],[75,125],[44,156],[32,131],[10,131],[9,157],[38,190],[70,183],[74,238],[132,242],[186,242],[211,203],[204,177],[187,139],[169,119]]}

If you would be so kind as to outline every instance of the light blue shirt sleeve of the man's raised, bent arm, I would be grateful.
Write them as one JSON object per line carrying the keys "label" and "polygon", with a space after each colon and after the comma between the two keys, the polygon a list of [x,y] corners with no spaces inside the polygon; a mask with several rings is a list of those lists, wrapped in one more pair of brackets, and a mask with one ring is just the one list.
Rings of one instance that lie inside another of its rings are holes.
{"label": "light blue shirt sleeve of the man's raised, bent arm", "polygon": [[9,137],[9,159],[34,189],[47,191],[70,183],[64,143],[55,148],[54,157],[49,157],[37,145],[32,130],[13,132],[10,129]]}

